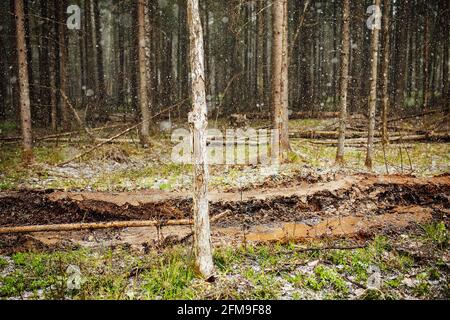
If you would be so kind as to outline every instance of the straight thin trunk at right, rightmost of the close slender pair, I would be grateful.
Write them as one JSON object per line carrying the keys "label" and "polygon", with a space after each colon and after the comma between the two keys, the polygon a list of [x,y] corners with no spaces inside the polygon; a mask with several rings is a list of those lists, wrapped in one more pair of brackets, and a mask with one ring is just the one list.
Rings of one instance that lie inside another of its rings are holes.
{"label": "straight thin trunk at right, rightmost of the close slender pair", "polygon": [[390,65],[390,35],[389,35],[389,15],[391,12],[391,0],[384,0],[383,15],[383,112],[382,112],[382,142],[389,143],[387,118],[389,112],[389,65]]}

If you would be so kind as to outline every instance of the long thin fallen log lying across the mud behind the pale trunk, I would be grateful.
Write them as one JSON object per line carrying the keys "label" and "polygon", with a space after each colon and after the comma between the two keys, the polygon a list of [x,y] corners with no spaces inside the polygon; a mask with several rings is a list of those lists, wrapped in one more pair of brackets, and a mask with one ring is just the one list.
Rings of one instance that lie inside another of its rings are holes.
{"label": "long thin fallen log lying across the mud behind the pale trunk", "polygon": [[[211,223],[217,222],[230,213],[229,210],[222,212],[211,218]],[[190,226],[194,224],[192,219],[179,220],[132,220],[132,221],[111,221],[92,223],[67,223],[48,224],[19,227],[0,227],[0,234],[12,233],[36,233],[36,232],[62,232],[62,231],[83,231],[100,229],[122,229],[122,228],[142,228],[142,227],[163,227],[163,226]]]}

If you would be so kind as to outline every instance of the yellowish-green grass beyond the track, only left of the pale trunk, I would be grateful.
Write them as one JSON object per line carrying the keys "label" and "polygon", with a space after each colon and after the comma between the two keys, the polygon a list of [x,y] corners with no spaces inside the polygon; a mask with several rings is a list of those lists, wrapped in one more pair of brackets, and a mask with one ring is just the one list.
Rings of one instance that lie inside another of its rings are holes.
{"label": "yellowish-green grass beyond the track, only left of the pale trunk", "polygon": [[[114,148],[122,150],[133,159],[141,159],[145,156],[143,149],[131,145],[123,144],[120,147],[114,146]],[[111,149],[112,147],[105,146],[105,149],[95,152],[83,161],[100,161]],[[73,190],[91,187],[99,191],[148,189],[155,187],[155,180],[165,179],[167,181],[160,183],[159,188],[170,191],[183,176],[189,175],[192,171],[191,165],[152,164],[151,161],[148,161],[149,164],[143,168],[135,168],[130,165],[130,169],[125,168],[113,172],[108,168],[103,169],[98,166],[99,170],[93,178],[83,178],[82,176],[66,176],[64,173],[52,175],[45,167],[55,166],[80,152],[82,152],[82,149],[68,145],[37,146],[34,148],[35,164],[27,167],[22,164],[22,152],[19,146],[2,146],[2,152],[0,153],[0,190],[15,189],[19,184],[29,184],[30,187],[41,188],[39,185],[30,183],[29,180],[42,181],[51,177],[51,181],[48,181],[45,185],[46,188]],[[143,162],[144,160],[141,159],[140,161]],[[79,172],[82,174],[82,169]]]}

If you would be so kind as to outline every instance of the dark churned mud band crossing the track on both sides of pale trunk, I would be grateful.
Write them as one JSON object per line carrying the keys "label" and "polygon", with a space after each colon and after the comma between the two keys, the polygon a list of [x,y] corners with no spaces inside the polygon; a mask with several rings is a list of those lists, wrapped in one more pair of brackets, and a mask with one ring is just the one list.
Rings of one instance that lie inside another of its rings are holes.
{"label": "dark churned mud band crossing the track on both sides of pale trunk", "polygon": [[[407,180],[406,180],[407,181]],[[302,185],[299,188],[305,188]],[[266,192],[267,190],[265,190]],[[270,192],[267,192],[270,194]],[[158,220],[192,217],[192,200],[179,198],[139,205],[117,205],[93,199],[54,200],[52,191],[0,193],[0,226],[26,226],[80,222]],[[320,190],[305,196],[289,195],[212,202],[211,214],[226,210],[232,214],[221,220],[223,227],[245,224],[318,221],[331,216],[380,215],[398,206],[418,205],[436,210],[450,208],[450,184],[379,183],[351,184],[338,190]]]}

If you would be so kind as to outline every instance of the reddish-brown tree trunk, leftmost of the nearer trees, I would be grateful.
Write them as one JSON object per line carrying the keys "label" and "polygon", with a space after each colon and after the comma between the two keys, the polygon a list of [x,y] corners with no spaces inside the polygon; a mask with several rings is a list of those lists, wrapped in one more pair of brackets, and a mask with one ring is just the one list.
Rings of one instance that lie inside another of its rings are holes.
{"label": "reddish-brown tree trunk, leftmost of the nearer trees", "polygon": [[19,63],[20,119],[22,125],[23,160],[33,160],[33,140],[31,131],[30,86],[28,83],[27,46],[25,41],[25,13],[23,0],[14,1],[16,15],[17,57]]}

